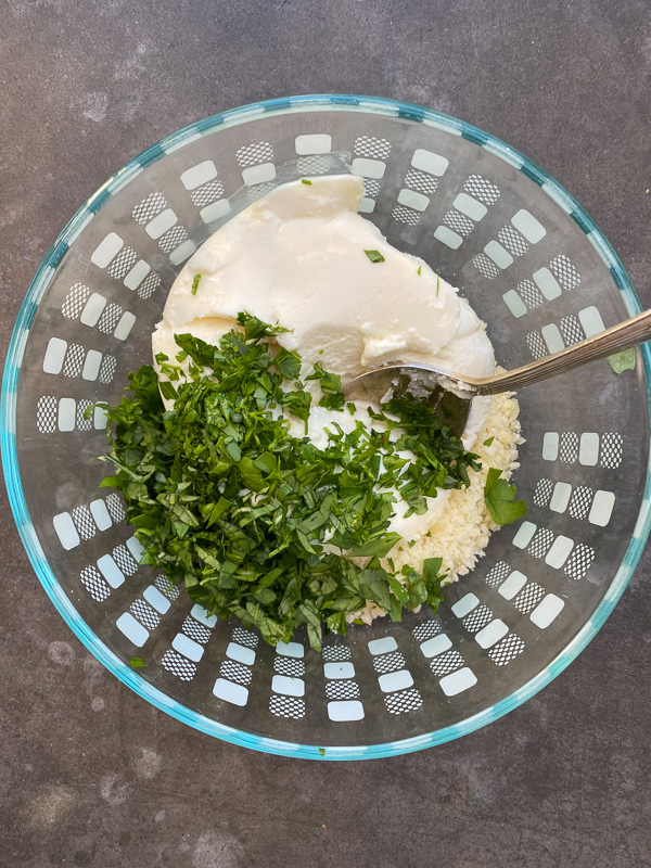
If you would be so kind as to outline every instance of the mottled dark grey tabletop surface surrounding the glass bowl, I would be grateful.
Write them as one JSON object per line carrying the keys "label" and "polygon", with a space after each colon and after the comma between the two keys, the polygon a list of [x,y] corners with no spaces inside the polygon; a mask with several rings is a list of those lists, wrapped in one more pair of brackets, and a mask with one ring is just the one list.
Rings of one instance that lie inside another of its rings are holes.
{"label": "mottled dark grey tabletop surface surrounding the glass bowl", "polygon": [[[130,157],[205,115],[319,91],[505,139],[651,304],[648,0],[0,0],[2,352],[34,272]],[[362,764],[264,756],[108,675],[41,590],[2,492],[0,866],[651,865],[651,559],[587,651],[487,729]]]}

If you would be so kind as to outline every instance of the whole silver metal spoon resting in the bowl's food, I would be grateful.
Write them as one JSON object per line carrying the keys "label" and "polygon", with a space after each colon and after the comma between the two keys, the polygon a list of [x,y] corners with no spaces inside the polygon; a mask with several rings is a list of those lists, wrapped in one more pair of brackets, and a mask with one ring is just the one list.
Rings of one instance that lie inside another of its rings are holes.
{"label": "whole silver metal spoon resting in the bowl's food", "polygon": [[398,363],[367,371],[345,383],[342,392],[350,400],[369,400],[375,404],[390,390],[393,390],[394,396],[408,394],[434,409],[452,434],[460,437],[468,421],[470,403],[477,395],[497,395],[500,392],[523,388],[649,340],[651,310],[646,310],[540,361],[533,361],[495,376],[477,380],[427,365]]}

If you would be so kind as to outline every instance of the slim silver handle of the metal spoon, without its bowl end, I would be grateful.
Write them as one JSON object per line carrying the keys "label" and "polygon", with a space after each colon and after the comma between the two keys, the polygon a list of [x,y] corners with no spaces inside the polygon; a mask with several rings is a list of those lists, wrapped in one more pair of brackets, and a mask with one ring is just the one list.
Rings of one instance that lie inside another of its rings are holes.
{"label": "slim silver handle of the metal spoon, without its bowl end", "polygon": [[561,349],[560,353],[547,356],[540,361],[533,361],[531,365],[484,380],[469,380],[469,383],[476,388],[478,395],[496,395],[500,392],[539,383],[549,376],[578,368],[586,361],[612,356],[614,353],[629,349],[644,341],[651,341],[651,310],[644,310],[643,314],[638,314],[633,319],[620,322],[612,329],[607,329],[593,337],[588,337],[587,341]]}

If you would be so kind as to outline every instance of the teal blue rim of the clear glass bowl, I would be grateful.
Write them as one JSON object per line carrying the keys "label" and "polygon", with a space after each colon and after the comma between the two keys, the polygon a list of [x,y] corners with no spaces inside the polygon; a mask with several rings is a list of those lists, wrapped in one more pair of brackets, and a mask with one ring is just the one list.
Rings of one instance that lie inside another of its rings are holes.
{"label": "teal blue rim of the clear glass bowl", "polygon": [[[445,727],[435,732],[424,733],[411,739],[390,741],[384,744],[369,745],[343,745],[343,746],[320,746],[318,744],[296,744],[289,741],[270,739],[256,736],[253,732],[245,732],[232,727],[219,724],[202,714],[187,709],[180,702],[170,699],[161,690],[156,689],[144,678],[137,675],[130,666],[123,663],[104,642],[88,628],[87,624],[79,616],[78,612],[64,593],[56,580],[43,550],[38,540],[34,524],[29,516],[27,503],[21,476],[18,472],[16,452],[16,394],[18,375],[23,352],[27,342],[29,328],[36,315],[38,305],[54,276],[54,271],[71,244],[81,233],[85,226],[92,219],[92,216],[120,190],[131,178],[138,175],[142,168],[161,159],[165,154],[183,148],[195,139],[209,135],[220,127],[245,124],[248,120],[259,119],[266,114],[285,114],[290,112],[306,112],[312,108],[321,111],[362,111],[365,113],[375,113],[384,116],[401,117],[413,120],[425,126],[436,127],[445,132],[461,136],[475,144],[485,148],[490,153],[503,159],[509,165],[522,171],[532,181],[537,183],[545,192],[572,217],[586,233],[588,240],[596,247],[611,272],[616,286],[620,290],[622,299],[629,316],[641,312],[642,307],[637,293],[630,282],[626,270],[620,261],[613,247],[601,233],[595,221],[584,208],[567,193],[557,181],[553,180],[539,166],[527,159],[523,154],[515,151],[510,145],[489,136],[477,127],[458,120],[455,117],[441,114],[439,112],[412,105],[395,100],[385,100],[373,97],[356,97],[352,94],[326,93],[303,97],[289,97],[284,99],[268,100],[265,102],[244,105],[221,114],[199,120],[184,129],[175,132],[173,136],[163,139],[157,144],[148,148],[139,156],[131,159],[127,165],[115,173],[101,187],[94,195],[77,212],[73,219],[61,232],[48,255],[41,263],[34,280],[29,285],[25,301],[23,302],[16,324],[11,336],[4,375],[2,379],[2,395],[0,404],[0,432],[2,446],[2,463],[9,500],[13,511],[14,520],[21,534],[21,539],[31,565],[44,587],[48,596],[59,610],[59,613],[71,627],[73,633],[80,639],[88,650],[115,675],[124,681],[143,699],[148,700],[173,717],[189,724],[195,729],[210,736],[251,748],[265,753],[279,754],[281,756],[296,756],[304,760],[370,760],[383,756],[393,756],[403,753],[419,751],[434,744],[443,744],[446,741],[464,736],[475,729],[480,729],[486,724],[497,720],[498,717],[516,709],[527,699],[535,695],[553,678],[560,675],[563,669],[584,650],[588,642],[597,635],[613,608],[624,588],[628,584],[630,576],[640,559],[649,531],[651,529],[651,470],[647,469],[647,481],[644,485],[644,496],[640,506],[637,523],[633,536],[626,549],[626,553],[620,567],[598,609],[589,621],[578,630],[565,649],[538,675],[515,690],[509,697],[496,702],[488,709],[467,718],[454,726]],[[644,366],[647,384],[651,382],[651,349],[649,344],[640,347]],[[649,391],[649,385],[647,386]]]}

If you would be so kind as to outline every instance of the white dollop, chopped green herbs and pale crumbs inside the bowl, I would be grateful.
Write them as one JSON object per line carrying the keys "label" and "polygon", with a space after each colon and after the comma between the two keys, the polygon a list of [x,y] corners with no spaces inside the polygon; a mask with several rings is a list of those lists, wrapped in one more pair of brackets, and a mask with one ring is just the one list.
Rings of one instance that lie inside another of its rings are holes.
{"label": "white dollop, chopped green herbs and pale crumbs inside the bowl", "polygon": [[[143,562],[272,644],[436,611],[499,524],[521,442],[513,395],[475,398],[461,437],[414,395],[346,401],[394,361],[490,375],[485,326],[358,214],[361,178],[304,178],[233,217],[175,281],[154,366],[106,406]],[[113,424],[113,429],[111,427]]]}

